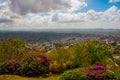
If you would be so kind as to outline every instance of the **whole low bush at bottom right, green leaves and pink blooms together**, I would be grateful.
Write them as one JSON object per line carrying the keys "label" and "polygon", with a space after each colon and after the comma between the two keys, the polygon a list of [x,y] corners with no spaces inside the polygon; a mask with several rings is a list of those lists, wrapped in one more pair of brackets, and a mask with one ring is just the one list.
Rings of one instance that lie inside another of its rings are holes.
{"label": "whole low bush at bottom right, green leaves and pink blooms together", "polygon": [[104,66],[94,65],[65,71],[60,75],[60,80],[120,80],[120,73],[115,73]]}

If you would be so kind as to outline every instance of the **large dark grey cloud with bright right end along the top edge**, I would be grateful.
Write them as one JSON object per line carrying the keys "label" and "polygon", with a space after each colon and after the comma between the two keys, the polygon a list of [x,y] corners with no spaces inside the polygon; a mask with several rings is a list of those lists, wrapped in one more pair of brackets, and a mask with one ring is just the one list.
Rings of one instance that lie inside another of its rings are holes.
{"label": "large dark grey cloud with bright right end along the top edge", "polygon": [[72,12],[87,6],[85,0],[9,0],[9,6],[18,14],[41,13],[53,10]]}

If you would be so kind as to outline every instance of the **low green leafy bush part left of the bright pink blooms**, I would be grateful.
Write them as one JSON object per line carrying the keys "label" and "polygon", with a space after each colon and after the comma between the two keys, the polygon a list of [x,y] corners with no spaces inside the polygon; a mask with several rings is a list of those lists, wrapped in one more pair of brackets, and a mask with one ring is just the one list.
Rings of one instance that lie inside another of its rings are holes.
{"label": "low green leafy bush part left of the bright pink blooms", "polygon": [[82,69],[74,69],[64,72],[60,76],[60,80],[87,80],[86,77]]}

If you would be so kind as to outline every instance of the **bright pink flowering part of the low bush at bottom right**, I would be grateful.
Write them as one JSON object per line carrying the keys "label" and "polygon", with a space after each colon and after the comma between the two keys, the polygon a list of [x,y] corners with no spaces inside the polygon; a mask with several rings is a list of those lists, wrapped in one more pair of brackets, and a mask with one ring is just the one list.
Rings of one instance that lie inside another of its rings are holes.
{"label": "bright pink flowering part of the low bush at bottom right", "polygon": [[107,67],[101,65],[94,65],[92,67],[83,69],[83,72],[90,80],[117,79],[114,72],[111,73]]}

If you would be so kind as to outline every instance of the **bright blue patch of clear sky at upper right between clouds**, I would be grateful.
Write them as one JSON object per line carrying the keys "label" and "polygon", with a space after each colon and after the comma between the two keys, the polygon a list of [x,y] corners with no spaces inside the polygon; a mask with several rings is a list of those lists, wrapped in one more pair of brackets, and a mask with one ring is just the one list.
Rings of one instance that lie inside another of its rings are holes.
{"label": "bright blue patch of clear sky at upper right between clouds", "polygon": [[86,0],[86,2],[87,7],[78,9],[75,12],[87,12],[91,9],[95,10],[96,12],[103,12],[112,6],[116,6],[118,9],[120,9],[120,2],[110,3],[109,0]]}

